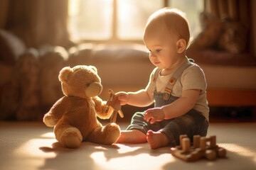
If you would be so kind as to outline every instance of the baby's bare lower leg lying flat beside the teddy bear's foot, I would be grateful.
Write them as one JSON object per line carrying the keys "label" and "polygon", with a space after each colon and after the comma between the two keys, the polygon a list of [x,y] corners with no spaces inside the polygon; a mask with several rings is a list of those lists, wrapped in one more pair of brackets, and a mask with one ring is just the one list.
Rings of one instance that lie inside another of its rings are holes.
{"label": "baby's bare lower leg lying flat beside the teddy bear's foot", "polygon": [[144,143],[146,142],[146,135],[139,130],[122,130],[117,143]]}

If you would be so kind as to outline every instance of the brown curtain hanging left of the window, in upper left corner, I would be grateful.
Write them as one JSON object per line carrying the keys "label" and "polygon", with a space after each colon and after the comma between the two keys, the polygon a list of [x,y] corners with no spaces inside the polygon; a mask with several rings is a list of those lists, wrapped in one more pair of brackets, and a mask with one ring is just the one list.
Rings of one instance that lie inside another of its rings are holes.
{"label": "brown curtain hanging left of the window, in upper left corner", "polygon": [[17,35],[27,47],[71,45],[67,29],[68,0],[4,0],[4,29]]}

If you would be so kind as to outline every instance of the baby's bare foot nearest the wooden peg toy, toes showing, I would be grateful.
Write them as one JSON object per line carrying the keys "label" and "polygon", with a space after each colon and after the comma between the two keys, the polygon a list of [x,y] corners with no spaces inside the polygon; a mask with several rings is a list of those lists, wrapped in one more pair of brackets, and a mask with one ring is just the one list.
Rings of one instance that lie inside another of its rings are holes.
{"label": "baby's bare foot nearest the wooden peg toy, toes showing", "polygon": [[151,149],[166,147],[169,144],[169,139],[164,133],[153,132],[152,130],[146,133],[146,140],[149,142]]}

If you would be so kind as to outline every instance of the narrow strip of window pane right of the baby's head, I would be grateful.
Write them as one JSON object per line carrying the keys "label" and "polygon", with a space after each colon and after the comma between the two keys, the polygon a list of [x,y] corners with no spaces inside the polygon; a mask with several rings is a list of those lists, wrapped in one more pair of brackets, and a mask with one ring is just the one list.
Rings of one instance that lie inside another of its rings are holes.
{"label": "narrow strip of window pane right of the baby's head", "polygon": [[169,0],[169,6],[186,13],[191,36],[195,38],[201,31],[199,15],[203,11],[203,0]]}

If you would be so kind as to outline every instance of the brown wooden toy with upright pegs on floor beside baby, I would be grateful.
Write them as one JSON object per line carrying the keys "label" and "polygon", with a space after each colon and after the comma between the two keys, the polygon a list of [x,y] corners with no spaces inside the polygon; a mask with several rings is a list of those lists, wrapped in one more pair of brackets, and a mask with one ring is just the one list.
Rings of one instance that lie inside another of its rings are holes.
{"label": "brown wooden toy with upright pegs on floor beside baby", "polygon": [[[209,145],[208,145],[209,142]],[[171,154],[186,162],[194,162],[202,157],[213,160],[216,157],[223,158],[226,150],[216,145],[216,136],[193,136],[193,146],[187,135],[180,135],[180,145],[171,148]]]}

